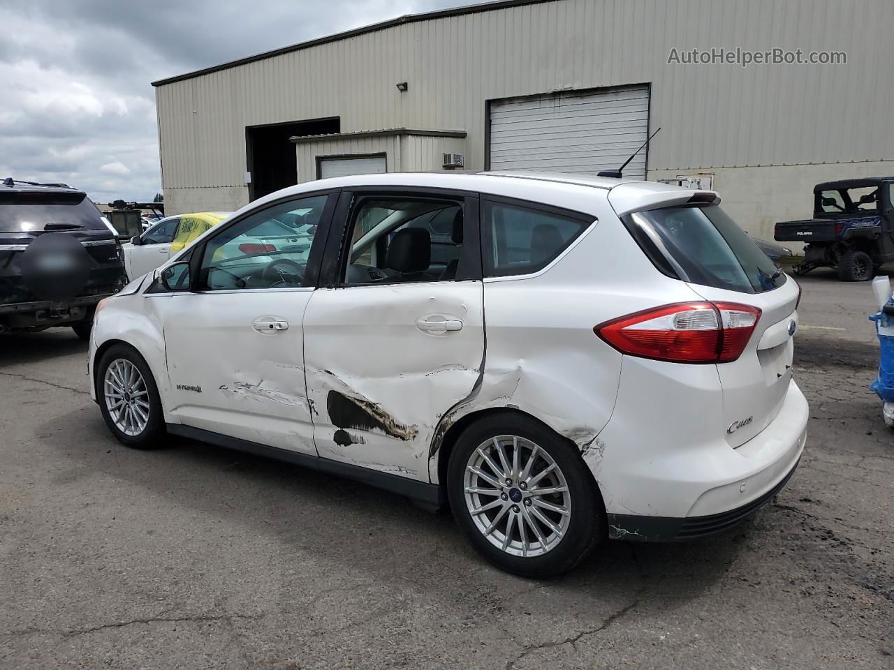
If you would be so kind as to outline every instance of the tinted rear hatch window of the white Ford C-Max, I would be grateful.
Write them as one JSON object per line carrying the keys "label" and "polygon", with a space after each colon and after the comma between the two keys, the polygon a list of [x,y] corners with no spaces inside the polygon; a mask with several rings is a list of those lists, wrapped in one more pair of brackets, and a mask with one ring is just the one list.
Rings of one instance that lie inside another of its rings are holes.
{"label": "tinted rear hatch window of the white Ford C-Max", "polygon": [[635,212],[624,224],[661,272],[742,293],[776,289],[785,275],[718,205]]}

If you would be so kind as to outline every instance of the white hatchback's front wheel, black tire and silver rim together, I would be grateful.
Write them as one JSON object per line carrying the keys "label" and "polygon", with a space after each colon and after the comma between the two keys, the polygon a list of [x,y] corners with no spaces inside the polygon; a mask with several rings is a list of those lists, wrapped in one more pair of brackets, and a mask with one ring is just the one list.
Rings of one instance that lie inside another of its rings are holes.
{"label": "white hatchback's front wheel, black tire and silver rim together", "polygon": [[97,399],[105,425],[127,447],[160,446],[164,416],[156,381],[135,349],[114,345],[97,365]]}

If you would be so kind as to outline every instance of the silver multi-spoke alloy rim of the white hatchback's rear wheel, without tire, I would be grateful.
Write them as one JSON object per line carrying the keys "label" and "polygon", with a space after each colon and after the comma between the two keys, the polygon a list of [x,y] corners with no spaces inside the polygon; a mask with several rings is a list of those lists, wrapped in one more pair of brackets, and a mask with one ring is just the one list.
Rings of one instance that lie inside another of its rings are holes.
{"label": "silver multi-spoke alloy rim of the white hatchback's rear wheel, without tire", "polygon": [[468,458],[463,486],[477,529],[507,554],[542,556],[568,531],[568,482],[531,440],[498,435],[482,442]]}

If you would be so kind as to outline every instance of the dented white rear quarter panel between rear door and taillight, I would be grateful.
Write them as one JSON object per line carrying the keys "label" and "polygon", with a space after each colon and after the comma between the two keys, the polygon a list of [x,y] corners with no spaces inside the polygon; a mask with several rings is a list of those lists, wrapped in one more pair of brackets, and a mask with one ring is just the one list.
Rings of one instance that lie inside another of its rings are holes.
{"label": "dented white rear quarter panel between rear door and taillight", "polygon": [[430,449],[432,482],[438,482],[436,456],[450,426],[494,408],[535,416],[574,442],[598,473],[607,448],[600,432],[615,406],[623,356],[596,337],[595,325],[618,314],[698,298],[655,270],[606,193],[591,191],[587,208],[594,223],[544,270],[485,279],[484,373],[469,398],[439,423]]}

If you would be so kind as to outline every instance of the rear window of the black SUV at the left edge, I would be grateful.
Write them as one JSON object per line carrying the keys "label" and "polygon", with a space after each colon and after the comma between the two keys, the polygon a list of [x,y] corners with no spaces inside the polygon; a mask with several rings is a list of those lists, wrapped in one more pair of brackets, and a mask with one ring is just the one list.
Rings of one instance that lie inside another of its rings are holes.
{"label": "rear window of the black SUV at the left edge", "polygon": [[0,232],[109,229],[83,193],[0,191]]}

